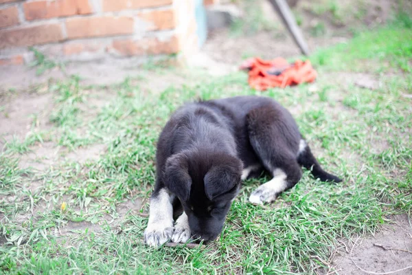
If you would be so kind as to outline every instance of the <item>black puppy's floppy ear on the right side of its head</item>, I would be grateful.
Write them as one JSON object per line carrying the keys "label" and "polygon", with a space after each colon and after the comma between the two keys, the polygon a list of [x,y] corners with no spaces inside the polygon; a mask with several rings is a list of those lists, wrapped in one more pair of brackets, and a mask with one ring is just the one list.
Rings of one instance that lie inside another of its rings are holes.
{"label": "black puppy's floppy ear on the right side of its head", "polygon": [[207,198],[213,200],[229,192],[233,192],[231,195],[235,197],[240,184],[241,171],[242,163],[238,159],[231,164],[212,167],[203,179]]}

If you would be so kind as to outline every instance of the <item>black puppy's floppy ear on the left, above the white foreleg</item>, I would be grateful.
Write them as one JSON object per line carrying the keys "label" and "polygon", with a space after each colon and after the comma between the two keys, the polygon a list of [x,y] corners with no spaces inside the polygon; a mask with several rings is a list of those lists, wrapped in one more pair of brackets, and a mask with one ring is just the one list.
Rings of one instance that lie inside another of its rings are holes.
{"label": "black puppy's floppy ear on the left, above the white foreleg", "polygon": [[192,178],[187,170],[187,159],[184,155],[176,154],[169,157],[165,165],[165,186],[174,194],[187,201],[192,186]]}

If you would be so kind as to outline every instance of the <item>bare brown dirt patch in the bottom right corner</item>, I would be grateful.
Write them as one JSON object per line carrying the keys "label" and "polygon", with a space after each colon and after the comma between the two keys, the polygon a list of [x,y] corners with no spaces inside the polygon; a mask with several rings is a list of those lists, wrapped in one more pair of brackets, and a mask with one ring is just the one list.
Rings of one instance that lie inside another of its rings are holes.
{"label": "bare brown dirt patch in the bottom right corner", "polygon": [[[356,245],[352,245],[339,249],[333,259],[334,268],[339,274],[367,274],[356,267],[353,261],[363,270],[382,274],[412,265],[412,225],[406,214],[393,217],[393,224],[385,225],[375,236],[358,240]],[[412,268],[396,274],[412,274]]]}

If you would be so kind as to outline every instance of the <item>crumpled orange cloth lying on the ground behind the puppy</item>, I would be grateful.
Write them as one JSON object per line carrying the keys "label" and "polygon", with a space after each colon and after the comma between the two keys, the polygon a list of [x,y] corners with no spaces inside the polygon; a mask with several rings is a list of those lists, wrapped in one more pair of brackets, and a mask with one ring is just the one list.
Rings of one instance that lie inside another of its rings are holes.
{"label": "crumpled orange cloth lying on the ground behind the puppy", "polygon": [[310,61],[295,61],[289,64],[284,58],[264,61],[255,57],[244,61],[240,69],[249,70],[249,85],[260,91],[271,87],[284,88],[288,85],[313,82],[317,78],[317,72]]}

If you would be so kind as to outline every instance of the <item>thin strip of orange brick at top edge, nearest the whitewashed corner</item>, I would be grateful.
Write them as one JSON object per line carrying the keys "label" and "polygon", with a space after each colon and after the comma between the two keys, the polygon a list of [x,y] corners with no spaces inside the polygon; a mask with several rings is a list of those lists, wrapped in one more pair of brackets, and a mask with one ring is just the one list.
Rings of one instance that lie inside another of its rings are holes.
{"label": "thin strip of orange brick at top edge, nearest the whitewashed corner", "polygon": [[104,12],[117,12],[119,10],[135,10],[139,8],[160,7],[172,5],[172,0],[102,0]]}

